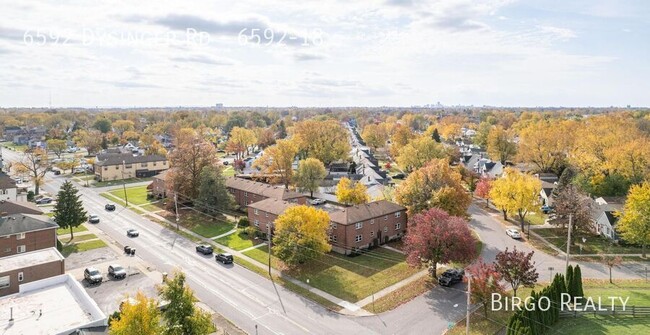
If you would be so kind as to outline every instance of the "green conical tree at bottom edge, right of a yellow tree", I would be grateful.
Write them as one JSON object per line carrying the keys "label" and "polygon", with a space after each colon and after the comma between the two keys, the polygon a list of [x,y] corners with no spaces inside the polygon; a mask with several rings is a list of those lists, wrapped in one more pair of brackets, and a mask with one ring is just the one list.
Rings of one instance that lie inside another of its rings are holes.
{"label": "green conical tree at bottom edge, right of a yellow tree", "polygon": [[185,275],[176,272],[173,279],[160,288],[160,295],[169,301],[163,312],[165,335],[203,335],[215,331],[210,314],[194,306],[194,292],[185,283]]}

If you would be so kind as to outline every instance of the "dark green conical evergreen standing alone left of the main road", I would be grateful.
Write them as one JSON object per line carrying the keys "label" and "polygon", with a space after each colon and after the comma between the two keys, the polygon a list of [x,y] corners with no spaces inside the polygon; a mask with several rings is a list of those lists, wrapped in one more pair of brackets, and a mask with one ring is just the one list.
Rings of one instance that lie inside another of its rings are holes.
{"label": "dark green conical evergreen standing alone left of the main road", "polygon": [[88,220],[78,193],[79,190],[70,181],[63,183],[57,195],[58,200],[53,211],[54,222],[61,228],[70,228],[70,239],[74,238],[72,229]]}

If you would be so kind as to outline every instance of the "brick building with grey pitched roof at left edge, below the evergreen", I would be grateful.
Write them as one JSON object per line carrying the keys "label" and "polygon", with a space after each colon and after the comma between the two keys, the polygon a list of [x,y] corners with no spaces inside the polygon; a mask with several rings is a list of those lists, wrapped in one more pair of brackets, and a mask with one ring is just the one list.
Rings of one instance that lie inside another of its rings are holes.
{"label": "brick building with grey pitched roof at left edge, below the evergreen", "polygon": [[45,215],[0,217],[0,257],[56,247],[59,226]]}

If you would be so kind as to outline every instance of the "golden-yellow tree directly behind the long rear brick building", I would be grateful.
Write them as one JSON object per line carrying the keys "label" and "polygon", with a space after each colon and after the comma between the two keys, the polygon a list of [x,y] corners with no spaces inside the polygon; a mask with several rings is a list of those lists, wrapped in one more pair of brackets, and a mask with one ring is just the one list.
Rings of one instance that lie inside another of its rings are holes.
{"label": "golden-yellow tree directly behind the long rear brick building", "polygon": [[264,173],[275,175],[276,182],[289,189],[293,178],[293,161],[298,154],[298,146],[291,140],[279,140],[264,150],[264,155],[255,161],[254,166]]}

